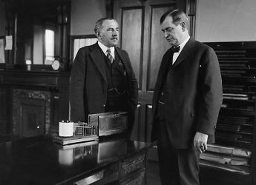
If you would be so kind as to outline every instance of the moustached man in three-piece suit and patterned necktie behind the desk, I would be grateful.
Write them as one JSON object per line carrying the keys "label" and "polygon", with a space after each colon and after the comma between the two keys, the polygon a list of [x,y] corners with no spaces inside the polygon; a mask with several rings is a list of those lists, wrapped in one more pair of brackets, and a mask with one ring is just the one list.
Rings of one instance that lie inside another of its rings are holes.
{"label": "moustached man in three-piece suit and patterned necktie behind the desk", "polygon": [[70,75],[70,116],[88,121],[88,114],[128,112],[131,132],[137,107],[138,83],[128,53],[116,47],[119,27],[114,19],[102,18],[94,28],[98,42],[76,54]]}

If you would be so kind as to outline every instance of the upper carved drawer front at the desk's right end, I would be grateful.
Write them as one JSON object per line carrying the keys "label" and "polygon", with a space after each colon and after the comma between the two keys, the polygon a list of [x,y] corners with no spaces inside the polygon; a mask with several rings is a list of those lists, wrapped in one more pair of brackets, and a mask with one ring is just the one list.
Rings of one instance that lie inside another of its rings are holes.
{"label": "upper carved drawer front at the desk's right end", "polygon": [[132,158],[128,158],[121,164],[120,177],[123,178],[131,172],[137,169],[145,168],[145,154],[137,155]]}

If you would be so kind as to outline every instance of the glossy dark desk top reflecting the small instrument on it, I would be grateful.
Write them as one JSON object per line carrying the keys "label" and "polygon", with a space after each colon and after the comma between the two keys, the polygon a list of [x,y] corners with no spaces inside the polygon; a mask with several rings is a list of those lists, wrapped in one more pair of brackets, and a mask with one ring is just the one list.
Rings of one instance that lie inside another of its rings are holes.
{"label": "glossy dark desk top reflecting the small instrument on it", "polygon": [[0,144],[0,184],[65,184],[151,144],[125,139],[61,146],[44,136]]}

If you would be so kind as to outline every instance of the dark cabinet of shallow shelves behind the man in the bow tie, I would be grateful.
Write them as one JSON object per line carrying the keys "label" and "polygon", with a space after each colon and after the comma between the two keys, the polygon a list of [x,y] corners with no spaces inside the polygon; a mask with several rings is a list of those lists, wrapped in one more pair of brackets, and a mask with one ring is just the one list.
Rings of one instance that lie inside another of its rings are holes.
{"label": "dark cabinet of shallow shelves behind the man in the bow tie", "polygon": [[[201,184],[256,184],[256,42],[206,44],[217,54],[223,80],[215,145],[234,150],[232,154],[208,152],[214,162],[200,161]],[[243,151],[244,155],[234,151]]]}

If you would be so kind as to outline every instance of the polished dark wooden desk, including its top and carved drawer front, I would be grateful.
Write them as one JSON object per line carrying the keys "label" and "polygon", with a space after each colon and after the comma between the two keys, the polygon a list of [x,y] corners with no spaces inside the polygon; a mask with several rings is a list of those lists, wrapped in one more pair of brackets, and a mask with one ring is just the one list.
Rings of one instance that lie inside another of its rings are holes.
{"label": "polished dark wooden desk, including its top and carved drawer front", "polygon": [[0,184],[145,184],[151,144],[105,139],[61,146],[39,136],[0,144]]}

